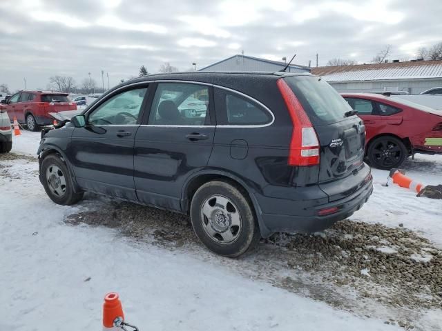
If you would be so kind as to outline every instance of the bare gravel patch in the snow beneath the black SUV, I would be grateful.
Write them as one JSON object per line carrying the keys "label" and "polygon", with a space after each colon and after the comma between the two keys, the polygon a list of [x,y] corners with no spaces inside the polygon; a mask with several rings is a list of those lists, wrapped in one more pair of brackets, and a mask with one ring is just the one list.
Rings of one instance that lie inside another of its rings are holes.
{"label": "bare gravel patch in the snow beneath the black SUV", "polygon": [[[135,241],[169,249],[205,250],[189,217],[134,203],[73,214],[66,223],[115,228]],[[400,227],[345,220],[316,234],[273,234],[251,257],[220,261],[247,277],[346,310],[355,309],[356,301],[403,308],[403,316],[442,307],[442,251]],[[413,328],[405,319],[401,324]]]}

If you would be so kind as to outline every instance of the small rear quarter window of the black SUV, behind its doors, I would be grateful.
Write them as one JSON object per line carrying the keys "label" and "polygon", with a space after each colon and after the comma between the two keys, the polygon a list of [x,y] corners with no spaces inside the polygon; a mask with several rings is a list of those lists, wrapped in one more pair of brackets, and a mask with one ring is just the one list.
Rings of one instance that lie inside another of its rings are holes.
{"label": "small rear quarter window of the black SUV, behind its doors", "polygon": [[226,94],[226,111],[227,124],[260,125],[271,121],[267,110],[235,94]]}

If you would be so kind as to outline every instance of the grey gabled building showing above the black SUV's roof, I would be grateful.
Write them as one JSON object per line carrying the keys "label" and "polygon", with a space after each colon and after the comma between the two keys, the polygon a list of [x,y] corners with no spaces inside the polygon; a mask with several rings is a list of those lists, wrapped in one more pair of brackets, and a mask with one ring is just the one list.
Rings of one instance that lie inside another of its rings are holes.
{"label": "grey gabled building showing above the black SUV's roof", "polygon": [[[276,72],[287,66],[287,63],[280,61],[271,61],[260,59],[258,57],[249,57],[247,55],[236,54],[233,57],[218,61],[206,66],[198,71],[260,71],[260,72]],[[291,64],[287,72],[310,72],[309,67]]]}

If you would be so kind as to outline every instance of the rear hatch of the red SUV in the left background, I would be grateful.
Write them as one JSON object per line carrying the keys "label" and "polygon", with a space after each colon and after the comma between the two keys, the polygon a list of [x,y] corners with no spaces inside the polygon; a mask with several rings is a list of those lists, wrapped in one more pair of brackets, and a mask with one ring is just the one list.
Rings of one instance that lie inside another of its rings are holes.
{"label": "rear hatch of the red SUV in the left background", "polygon": [[41,94],[41,102],[47,114],[58,120],[70,119],[79,114],[77,104],[68,99],[68,94]]}

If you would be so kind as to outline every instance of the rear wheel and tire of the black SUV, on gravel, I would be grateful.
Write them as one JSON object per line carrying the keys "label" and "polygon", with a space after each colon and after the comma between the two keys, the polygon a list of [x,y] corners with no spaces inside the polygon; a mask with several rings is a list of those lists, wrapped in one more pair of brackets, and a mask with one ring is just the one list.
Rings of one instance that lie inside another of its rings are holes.
{"label": "rear wheel and tire of the black SUV, on gravel", "polygon": [[224,257],[251,251],[261,237],[251,203],[225,181],[210,181],[195,192],[191,223],[200,241]]}

